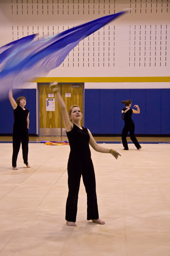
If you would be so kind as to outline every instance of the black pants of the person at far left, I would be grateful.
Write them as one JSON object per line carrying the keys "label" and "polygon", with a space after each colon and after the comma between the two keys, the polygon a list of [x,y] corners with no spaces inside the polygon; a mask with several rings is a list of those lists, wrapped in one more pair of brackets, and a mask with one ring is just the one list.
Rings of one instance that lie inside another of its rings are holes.
{"label": "black pants of the person at far left", "polygon": [[17,166],[17,157],[20,150],[20,145],[22,144],[22,150],[23,150],[23,160],[24,163],[28,164],[28,142],[29,142],[29,136],[28,132],[21,132],[19,133],[13,133],[13,154],[12,154],[12,166]]}

